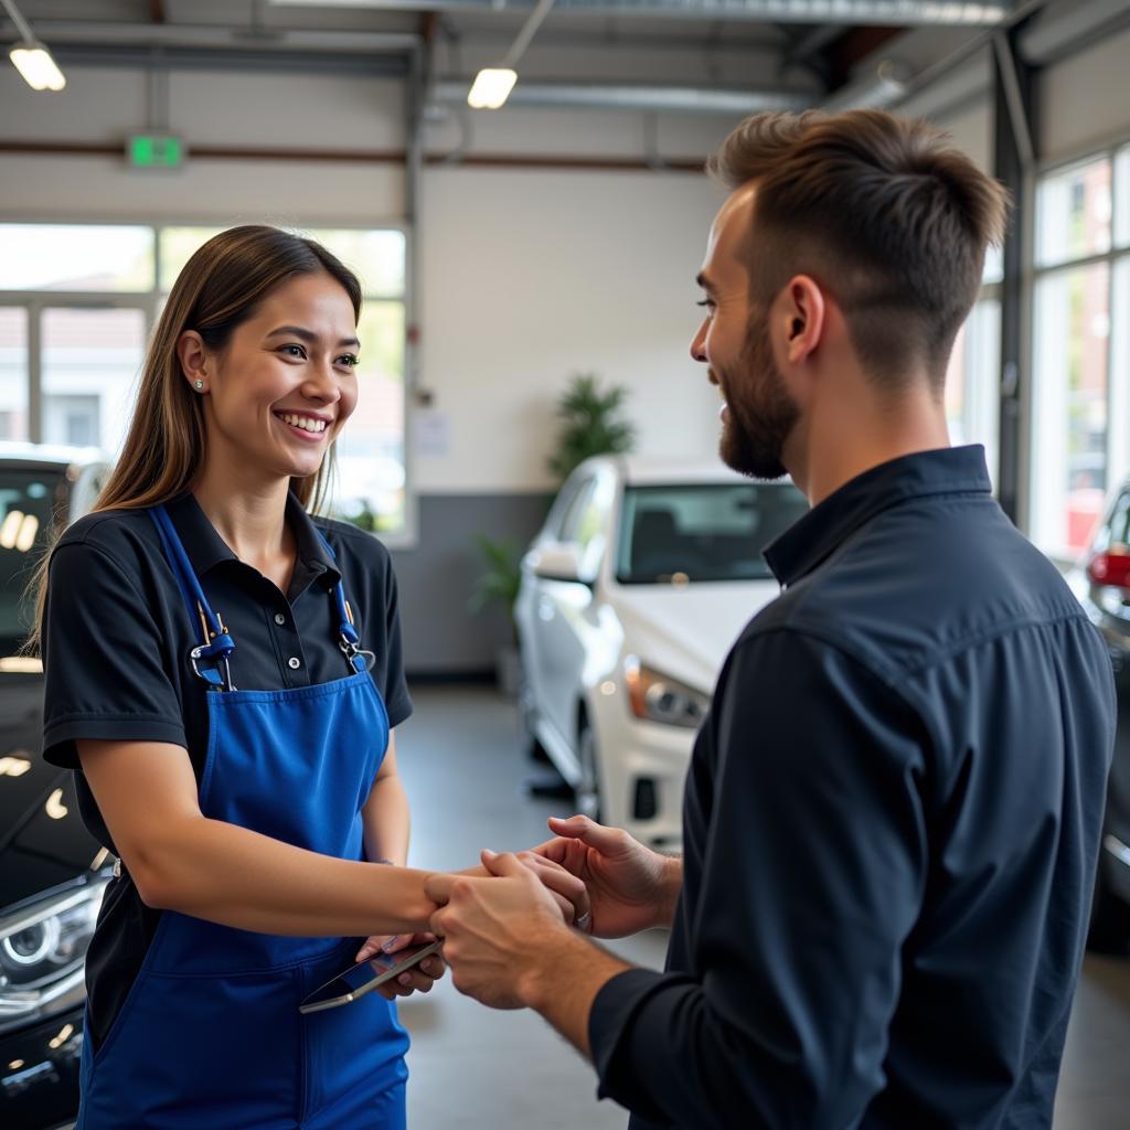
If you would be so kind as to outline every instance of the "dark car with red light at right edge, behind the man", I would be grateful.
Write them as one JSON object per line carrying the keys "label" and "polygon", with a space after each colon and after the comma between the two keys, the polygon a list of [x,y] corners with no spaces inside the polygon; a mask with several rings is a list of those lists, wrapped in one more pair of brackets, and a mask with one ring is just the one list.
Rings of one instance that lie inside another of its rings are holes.
{"label": "dark car with red light at right edge, behind the man", "polygon": [[1119,703],[1088,940],[1094,949],[1124,953],[1130,947],[1130,481],[1115,492],[1072,581],[1106,641]]}

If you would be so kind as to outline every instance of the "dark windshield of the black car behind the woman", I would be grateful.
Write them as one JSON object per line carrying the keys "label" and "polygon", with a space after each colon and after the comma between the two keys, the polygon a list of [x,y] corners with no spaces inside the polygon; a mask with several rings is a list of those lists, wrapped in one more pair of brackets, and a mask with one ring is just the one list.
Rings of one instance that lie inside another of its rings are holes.
{"label": "dark windshield of the black car behind the woman", "polygon": [[62,471],[0,468],[0,655],[15,654],[31,629],[27,586],[66,498]]}

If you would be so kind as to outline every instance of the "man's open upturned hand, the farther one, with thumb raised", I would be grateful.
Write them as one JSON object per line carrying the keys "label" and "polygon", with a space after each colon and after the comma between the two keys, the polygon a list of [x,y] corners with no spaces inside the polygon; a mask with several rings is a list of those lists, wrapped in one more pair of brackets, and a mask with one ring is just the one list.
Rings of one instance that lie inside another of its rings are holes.
{"label": "man's open upturned hand, the farther one, with thumb raised", "polygon": [[592,903],[591,932],[623,938],[670,925],[683,887],[683,862],[645,847],[620,828],[586,816],[549,818],[557,838],[532,849],[584,881]]}

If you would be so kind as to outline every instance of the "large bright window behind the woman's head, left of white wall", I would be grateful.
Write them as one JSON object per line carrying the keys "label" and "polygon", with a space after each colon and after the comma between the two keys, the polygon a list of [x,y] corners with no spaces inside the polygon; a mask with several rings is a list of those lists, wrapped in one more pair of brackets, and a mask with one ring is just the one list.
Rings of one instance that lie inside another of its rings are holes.
{"label": "large bright window behind the woman's head, left of white wall", "polygon": [[[203,225],[0,224],[0,440],[124,438],[146,339]],[[357,410],[338,443],[334,514],[406,530],[406,236],[304,228],[362,280]]]}

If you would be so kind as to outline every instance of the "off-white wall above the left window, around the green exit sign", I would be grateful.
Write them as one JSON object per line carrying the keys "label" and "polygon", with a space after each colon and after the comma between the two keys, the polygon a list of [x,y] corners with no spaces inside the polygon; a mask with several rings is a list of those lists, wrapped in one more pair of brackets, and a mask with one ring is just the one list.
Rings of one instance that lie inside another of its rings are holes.
{"label": "off-white wall above the left window, around the green exit sign", "polygon": [[120,145],[122,157],[0,154],[0,214],[78,219],[395,220],[403,177],[380,164],[192,160],[191,147],[388,150],[403,145],[400,84],[276,75],[169,76],[169,129],[190,148],[173,172],[130,169],[125,138],[147,132],[140,71],[67,68],[36,94],[0,67],[0,139]]}

